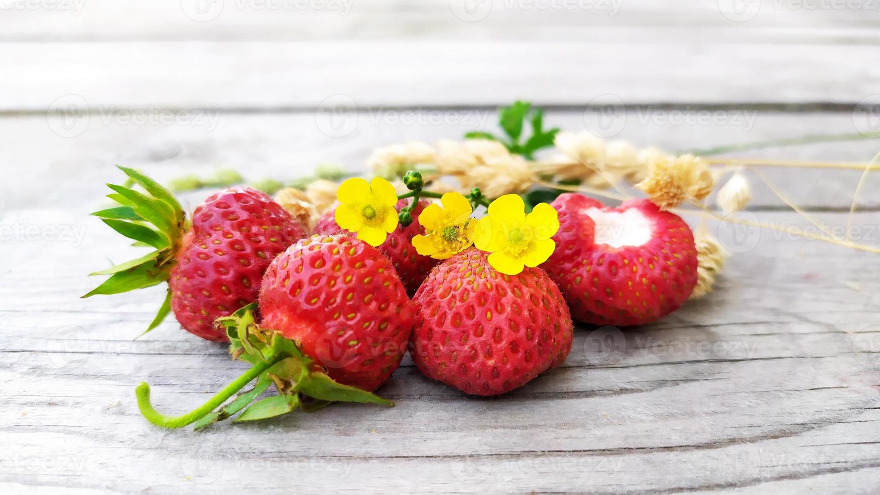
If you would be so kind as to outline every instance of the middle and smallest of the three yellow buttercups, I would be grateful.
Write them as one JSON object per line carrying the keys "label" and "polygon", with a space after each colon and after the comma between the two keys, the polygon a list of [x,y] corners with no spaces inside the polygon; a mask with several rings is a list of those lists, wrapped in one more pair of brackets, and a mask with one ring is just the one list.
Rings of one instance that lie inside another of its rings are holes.
{"label": "middle and smallest of the three yellow buttercups", "polygon": [[419,223],[425,235],[414,236],[412,243],[422,256],[447,259],[473,244],[476,222],[471,220],[471,203],[461,194],[445,193],[440,202],[443,207],[432,204],[422,210]]}

